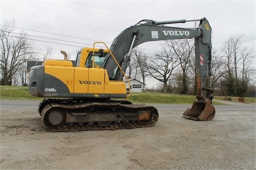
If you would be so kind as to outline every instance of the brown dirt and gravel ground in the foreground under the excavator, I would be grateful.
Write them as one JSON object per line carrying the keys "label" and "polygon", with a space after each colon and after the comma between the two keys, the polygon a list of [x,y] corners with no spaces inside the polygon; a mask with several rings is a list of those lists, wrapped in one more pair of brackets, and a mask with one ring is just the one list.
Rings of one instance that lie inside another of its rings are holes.
{"label": "brown dirt and gravel ground in the foreground under the excavator", "polygon": [[1,169],[255,169],[254,110],[216,108],[210,122],[159,105],[154,127],[48,132],[37,107],[1,111]]}

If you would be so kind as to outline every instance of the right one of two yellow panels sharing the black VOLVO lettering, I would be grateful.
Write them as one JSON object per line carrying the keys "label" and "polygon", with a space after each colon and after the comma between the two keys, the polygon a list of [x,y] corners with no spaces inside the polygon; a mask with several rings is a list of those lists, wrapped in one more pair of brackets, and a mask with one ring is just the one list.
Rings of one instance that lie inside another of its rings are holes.
{"label": "right one of two yellow panels sharing the black VOLVO lettering", "polygon": [[105,70],[99,68],[89,69],[88,93],[104,93]]}

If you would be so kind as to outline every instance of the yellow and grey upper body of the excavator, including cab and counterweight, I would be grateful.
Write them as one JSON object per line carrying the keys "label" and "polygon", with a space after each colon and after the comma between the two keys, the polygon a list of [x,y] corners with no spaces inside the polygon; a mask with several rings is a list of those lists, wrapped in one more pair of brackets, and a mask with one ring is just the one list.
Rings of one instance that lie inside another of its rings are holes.
{"label": "yellow and grey upper body of the excavator, including cab and counterweight", "polygon": [[[94,52],[98,51],[94,49]],[[42,66],[38,66],[44,71],[43,77],[33,76],[36,80],[30,80],[35,82],[35,86],[41,82],[41,88],[36,89],[36,93],[30,91],[30,94],[59,98],[126,98],[126,84],[109,80],[107,71],[100,67],[102,60],[97,53],[93,56],[93,48],[82,49],[77,56],[76,67],[67,60],[45,60]],[[30,74],[33,73],[31,70]]]}

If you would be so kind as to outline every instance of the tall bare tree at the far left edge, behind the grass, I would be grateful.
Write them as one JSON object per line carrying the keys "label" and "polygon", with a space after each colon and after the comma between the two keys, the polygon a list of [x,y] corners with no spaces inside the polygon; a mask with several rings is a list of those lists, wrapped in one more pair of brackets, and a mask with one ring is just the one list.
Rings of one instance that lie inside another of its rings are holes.
{"label": "tall bare tree at the far left edge, behind the grass", "polygon": [[[23,31],[20,34],[14,34],[14,31],[14,21],[6,21],[0,29],[1,85],[12,85],[18,70],[24,67],[27,60],[34,58],[34,47],[28,36]],[[25,80],[22,78],[21,81]]]}

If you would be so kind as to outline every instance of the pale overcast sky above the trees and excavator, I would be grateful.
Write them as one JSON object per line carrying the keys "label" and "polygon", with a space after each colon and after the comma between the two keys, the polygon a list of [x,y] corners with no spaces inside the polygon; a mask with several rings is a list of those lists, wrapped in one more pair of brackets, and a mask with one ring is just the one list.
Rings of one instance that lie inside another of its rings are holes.
{"label": "pale overcast sky above the trees and excavator", "polygon": [[[206,17],[212,27],[213,49],[219,50],[231,35],[243,34],[246,46],[255,47],[254,1],[0,1],[1,25],[13,19],[15,26],[39,42],[35,46],[52,46],[54,57],[62,59],[60,50],[75,60],[80,47],[95,41],[110,47],[114,38],[142,19],[155,21],[194,20]],[[193,27],[194,23],[178,27]],[[170,25],[169,25],[170,26]],[[177,25],[175,25],[177,26]],[[17,29],[19,32],[19,29]],[[42,33],[45,32],[45,33]],[[50,34],[51,33],[51,34]],[[60,34],[60,35],[56,35]],[[63,36],[67,35],[67,36]],[[40,38],[47,37],[47,38]],[[79,37],[79,38],[75,38]],[[54,39],[60,39],[57,41]],[[65,42],[69,41],[69,42]],[[77,42],[77,43],[72,43]],[[60,44],[54,44],[60,43]],[[159,44],[159,42],[157,42]],[[61,45],[67,44],[67,45]],[[68,46],[73,45],[73,46]],[[142,44],[142,48],[159,50],[158,45]],[[154,51],[150,51],[154,52]]]}

